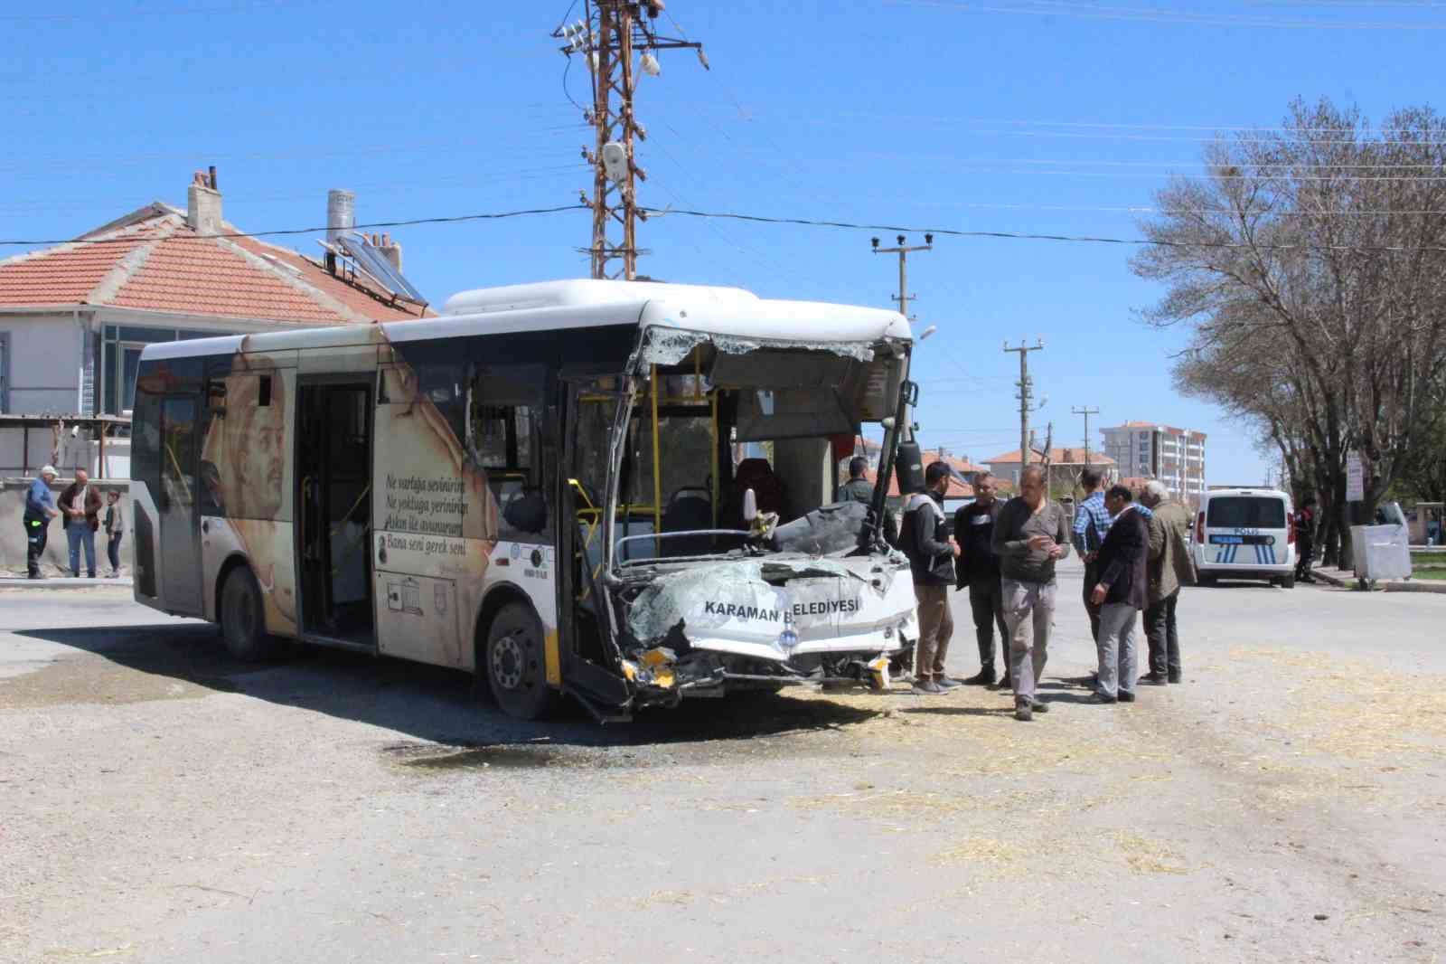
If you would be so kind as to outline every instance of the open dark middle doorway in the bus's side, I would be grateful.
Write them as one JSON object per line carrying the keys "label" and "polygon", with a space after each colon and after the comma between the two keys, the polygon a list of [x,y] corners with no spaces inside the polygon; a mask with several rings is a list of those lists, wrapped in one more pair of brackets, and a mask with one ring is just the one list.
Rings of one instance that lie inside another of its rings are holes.
{"label": "open dark middle doorway in the bus's side", "polygon": [[301,379],[295,478],[302,633],[370,650],[369,382]]}

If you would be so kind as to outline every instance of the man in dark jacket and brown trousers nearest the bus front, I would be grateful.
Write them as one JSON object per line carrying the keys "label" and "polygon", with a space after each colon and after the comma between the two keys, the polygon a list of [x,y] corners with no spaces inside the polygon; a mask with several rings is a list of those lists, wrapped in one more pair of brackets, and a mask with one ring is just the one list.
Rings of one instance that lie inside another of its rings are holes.
{"label": "man in dark jacket and brown trousers nearest the bus front", "polygon": [[949,637],[954,617],[949,612],[949,586],[954,583],[954,556],[959,543],[949,534],[944,517],[944,491],[950,469],[931,462],[924,469],[924,491],[908,498],[899,549],[908,556],[918,599],[918,650],[914,654],[914,692],[937,695],[959,686],[944,676]]}

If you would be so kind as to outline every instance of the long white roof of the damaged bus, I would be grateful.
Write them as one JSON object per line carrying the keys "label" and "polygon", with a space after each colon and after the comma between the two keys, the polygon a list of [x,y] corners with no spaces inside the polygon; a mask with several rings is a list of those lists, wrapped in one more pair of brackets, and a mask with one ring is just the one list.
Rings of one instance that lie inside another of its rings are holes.
{"label": "long white roof of the damaged bus", "polygon": [[[419,342],[469,334],[551,331],[612,324],[671,327],[739,339],[774,339],[792,344],[911,342],[908,320],[898,311],[759,298],[742,288],[674,285],[649,281],[545,281],[477,288],[448,298],[442,316],[382,324],[390,342]],[[187,342],[162,342],[147,359],[189,358],[286,349],[364,344],[372,326],[347,324],[292,331],[263,331]]]}

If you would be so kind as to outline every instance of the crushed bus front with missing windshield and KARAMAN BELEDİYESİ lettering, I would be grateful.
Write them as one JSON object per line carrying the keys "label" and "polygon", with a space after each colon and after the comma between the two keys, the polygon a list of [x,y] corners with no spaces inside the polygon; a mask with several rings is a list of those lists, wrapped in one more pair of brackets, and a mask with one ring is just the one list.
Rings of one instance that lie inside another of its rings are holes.
{"label": "crushed bus front with missing windshield and KARAMAN BELED\u0130YES\u0130 lettering", "polygon": [[[908,562],[878,523],[912,401],[908,324],[772,304],[785,314],[750,321],[649,303],[628,371],[574,386],[578,630],[620,676],[617,709],[882,688],[912,650]],[[873,499],[836,501],[869,426]]]}

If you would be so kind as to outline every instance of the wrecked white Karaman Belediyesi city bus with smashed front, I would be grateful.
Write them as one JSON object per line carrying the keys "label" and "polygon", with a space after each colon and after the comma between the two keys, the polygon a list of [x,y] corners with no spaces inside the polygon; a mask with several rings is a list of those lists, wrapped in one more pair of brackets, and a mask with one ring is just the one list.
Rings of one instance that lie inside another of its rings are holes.
{"label": "wrecked white Karaman Belediyesi city bus with smashed front", "polygon": [[[912,337],[897,313],[561,281],[438,318],[146,347],[136,599],[471,670],[508,714],[881,685],[917,637],[873,518]],[[884,430],[872,507],[839,460]],[[735,459],[735,453],[753,457]]]}

